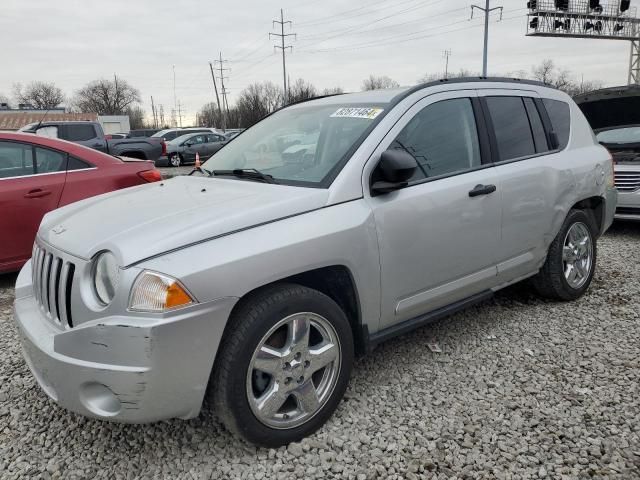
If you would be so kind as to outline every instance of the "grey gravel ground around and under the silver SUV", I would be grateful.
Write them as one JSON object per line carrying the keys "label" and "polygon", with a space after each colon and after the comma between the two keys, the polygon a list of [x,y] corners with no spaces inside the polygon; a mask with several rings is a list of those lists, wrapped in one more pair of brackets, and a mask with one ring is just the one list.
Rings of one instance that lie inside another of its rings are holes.
{"label": "grey gravel ground around and under the silver SUV", "polygon": [[[131,426],[38,389],[0,277],[0,478],[640,478],[640,224],[600,242],[575,303],[510,288],[360,359],[318,433],[256,449],[205,412]],[[427,343],[436,341],[442,353]]]}

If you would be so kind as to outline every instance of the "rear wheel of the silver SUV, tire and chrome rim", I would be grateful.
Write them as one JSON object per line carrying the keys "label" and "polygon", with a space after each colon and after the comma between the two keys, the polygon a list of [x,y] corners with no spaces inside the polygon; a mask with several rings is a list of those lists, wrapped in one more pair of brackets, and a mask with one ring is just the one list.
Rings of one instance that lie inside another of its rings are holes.
{"label": "rear wheel of the silver SUV, tire and chrome rim", "polygon": [[549,246],[547,259],[532,278],[543,297],[576,300],[589,288],[596,267],[595,226],[582,210],[571,210]]}

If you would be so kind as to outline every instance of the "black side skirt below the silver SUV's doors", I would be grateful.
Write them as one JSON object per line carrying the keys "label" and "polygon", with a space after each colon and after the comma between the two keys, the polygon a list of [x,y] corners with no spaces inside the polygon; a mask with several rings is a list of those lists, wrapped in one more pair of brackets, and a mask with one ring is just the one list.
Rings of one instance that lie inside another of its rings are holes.
{"label": "black side skirt below the silver SUV's doors", "polygon": [[405,320],[404,322],[392,325],[373,334],[369,334],[368,329],[363,329],[364,331],[362,332],[362,336],[365,339],[366,351],[371,352],[382,342],[415,330],[416,328],[428,325],[436,320],[453,315],[454,313],[472,307],[473,305],[477,305],[480,302],[488,300],[492,296],[493,292],[491,290],[485,290],[484,292],[467,297],[464,300],[457,301],[447,305],[446,307],[438,308],[437,310],[425,313],[424,315],[419,315],[415,318]]}

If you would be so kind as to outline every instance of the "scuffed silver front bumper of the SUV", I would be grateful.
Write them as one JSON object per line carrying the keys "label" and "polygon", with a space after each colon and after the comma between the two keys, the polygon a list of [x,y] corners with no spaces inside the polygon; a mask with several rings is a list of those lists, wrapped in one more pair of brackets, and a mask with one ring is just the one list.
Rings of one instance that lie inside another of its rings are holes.
{"label": "scuffed silver front bumper of the SUV", "polygon": [[[144,423],[192,418],[201,408],[215,354],[237,299],[168,316],[105,317],[75,328],[47,318],[29,294],[31,262],[14,304],[24,357],[44,392],[94,418]],[[25,293],[26,292],[26,293]]]}

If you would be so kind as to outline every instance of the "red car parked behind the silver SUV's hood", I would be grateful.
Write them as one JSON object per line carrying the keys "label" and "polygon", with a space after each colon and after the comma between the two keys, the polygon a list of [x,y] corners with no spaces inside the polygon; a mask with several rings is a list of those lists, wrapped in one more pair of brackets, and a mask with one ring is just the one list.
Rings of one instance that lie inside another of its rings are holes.
{"label": "red car parked behind the silver SUV's hood", "polygon": [[153,162],[76,143],[0,132],[0,273],[31,257],[45,213],[84,198],[161,180]]}

